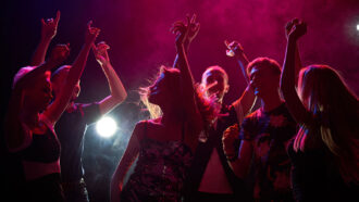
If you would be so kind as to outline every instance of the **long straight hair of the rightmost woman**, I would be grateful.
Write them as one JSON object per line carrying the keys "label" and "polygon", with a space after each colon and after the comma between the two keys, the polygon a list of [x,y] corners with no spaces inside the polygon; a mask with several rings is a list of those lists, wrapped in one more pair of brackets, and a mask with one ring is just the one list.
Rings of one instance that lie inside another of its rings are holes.
{"label": "long straight hair of the rightmost woman", "polygon": [[312,136],[301,143],[310,144],[321,140],[337,160],[343,177],[358,182],[357,96],[334,68],[317,64],[300,71],[298,92],[307,110],[321,122],[320,137],[313,137],[317,134],[312,132]]}

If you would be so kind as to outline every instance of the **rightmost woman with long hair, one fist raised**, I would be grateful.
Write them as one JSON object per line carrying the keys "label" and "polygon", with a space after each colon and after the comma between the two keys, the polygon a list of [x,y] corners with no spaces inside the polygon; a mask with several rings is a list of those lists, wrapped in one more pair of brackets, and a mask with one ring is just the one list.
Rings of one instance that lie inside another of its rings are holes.
{"label": "rightmost woman with long hair, one fist raised", "polygon": [[359,104],[333,67],[313,64],[299,73],[295,88],[295,49],[306,34],[296,21],[287,38],[281,89],[300,126],[288,147],[296,201],[358,201]]}

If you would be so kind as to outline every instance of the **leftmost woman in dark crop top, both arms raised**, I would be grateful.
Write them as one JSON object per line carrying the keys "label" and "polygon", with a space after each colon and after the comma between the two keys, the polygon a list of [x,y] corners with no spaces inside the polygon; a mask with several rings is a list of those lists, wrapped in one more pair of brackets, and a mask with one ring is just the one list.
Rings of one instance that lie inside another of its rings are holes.
{"label": "leftmost woman in dark crop top, both arms raised", "polygon": [[[53,126],[64,111],[79,79],[90,45],[99,29],[88,25],[85,45],[69,73],[59,98],[52,102],[50,70],[67,55],[67,46],[57,46],[50,59],[36,67],[23,67],[14,77],[5,119],[5,142],[18,166],[10,176],[13,198],[26,201],[63,201],[60,185],[60,142]],[[11,189],[10,188],[10,189]],[[16,199],[17,200],[17,199]]]}

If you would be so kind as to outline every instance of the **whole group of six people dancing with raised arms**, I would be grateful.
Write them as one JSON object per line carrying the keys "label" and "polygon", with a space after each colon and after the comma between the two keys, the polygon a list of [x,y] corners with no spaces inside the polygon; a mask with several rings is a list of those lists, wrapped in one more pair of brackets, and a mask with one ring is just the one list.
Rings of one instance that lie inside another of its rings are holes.
{"label": "whole group of six people dancing with raised arms", "polygon": [[[69,45],[55,46],[45,60],[59,21],[60,12],[41,20],[30,65],[13,81],[4,138],[14,201],[89,201],[82,165],[86,127],[127,96],[110,47],[96,45],[100,29],[91,23],[72,65],[57,68]],[[173,24],[173,67],[161,66],[143,89],[151,118],[134,128],[111,179],[111,202],[357,201],[358,98],[333,67],[302,67],[297,42],[306,23],[286,25],[282,68],[269,58],[249,62],[239,42],[226,42],[243,73],[235,79],[248,85],[231,105],[223,103],[230,89],[223,67],[208,67],[199,84],[193,78],[187,52],[199,29],[196,15]],[[90,49],[111,94],[76,103]]]}

